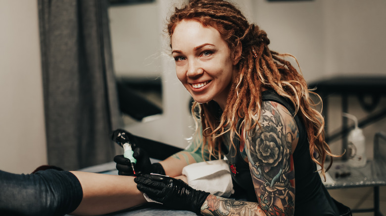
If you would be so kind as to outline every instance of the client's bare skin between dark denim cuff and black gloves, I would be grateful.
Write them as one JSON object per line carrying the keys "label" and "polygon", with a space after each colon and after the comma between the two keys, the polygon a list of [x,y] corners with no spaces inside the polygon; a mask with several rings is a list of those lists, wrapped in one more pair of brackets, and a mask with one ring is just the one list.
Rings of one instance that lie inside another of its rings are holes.
{"label": "client's bare skin between dark denim cuff and black gloves", "polygon": [[70,215],[102,215],[146,203],[134,177],[71,171],[82,185],[83,199]]}

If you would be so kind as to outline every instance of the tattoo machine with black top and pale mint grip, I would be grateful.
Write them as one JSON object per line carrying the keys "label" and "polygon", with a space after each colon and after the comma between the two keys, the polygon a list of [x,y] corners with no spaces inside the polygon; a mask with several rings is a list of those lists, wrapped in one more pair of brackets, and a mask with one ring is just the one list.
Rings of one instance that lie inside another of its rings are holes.
{"label": "tattoo machine with black top and pale mint grip", "polygon": [[117,129],[112,134],[112,140],[123,147],[124,153],[123,156],[128,158],[131,162],[131,168],[133,169],[133,173],[136,174],[134,169],[134,165],[137,163],[137,159],[133,157],[133,149],[131,147],[129,133],[122,129]]}

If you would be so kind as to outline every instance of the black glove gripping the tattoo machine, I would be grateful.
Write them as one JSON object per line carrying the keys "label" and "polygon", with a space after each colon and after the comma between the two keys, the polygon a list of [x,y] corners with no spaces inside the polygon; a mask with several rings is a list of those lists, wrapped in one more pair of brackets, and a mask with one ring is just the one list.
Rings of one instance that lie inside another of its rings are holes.
{"label": "black glove gripping the tattoo machine", "polygon": [[[136,175],[150,173],[165,175],[165,171],[160,163],[151,164],[150,158],[144,149],[140,147],[134,149],[133,157],[137,159],[137,163],[134,165]],[[114,157],[114,162],[117,163],[116,168],[118,170],[118,175],[134,176],[130,159],[125,158],[123,155],[116,155]]]}

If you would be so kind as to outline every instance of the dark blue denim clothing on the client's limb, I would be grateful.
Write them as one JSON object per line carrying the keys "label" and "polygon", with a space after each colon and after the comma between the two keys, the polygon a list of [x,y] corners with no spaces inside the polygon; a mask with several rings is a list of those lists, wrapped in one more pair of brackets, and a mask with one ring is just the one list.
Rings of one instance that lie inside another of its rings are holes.
{"label": "dark blue denim clothing on the client's limb", "polygon": [[29,175],[0,171],[0,188],[0,215],[6,216],[63,216],[83,198],[79,180],[68,171]]}

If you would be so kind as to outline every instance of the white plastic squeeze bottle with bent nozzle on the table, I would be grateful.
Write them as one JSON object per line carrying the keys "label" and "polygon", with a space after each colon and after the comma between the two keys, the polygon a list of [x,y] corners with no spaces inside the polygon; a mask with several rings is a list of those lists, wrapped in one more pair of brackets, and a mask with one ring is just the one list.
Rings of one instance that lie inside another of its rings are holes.
{"label": "white plastic squeeze bottle with bent nozzle on the table", "polygon": [[355,128],[350,131],[347,137],[348,165],[350,167],[364,167],[367,162],[365,136],[358,127],[358,120],[354,115],[343,113],[343,116],[352,119],[355,123]]}

